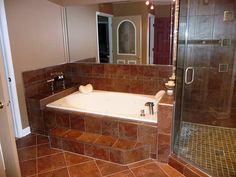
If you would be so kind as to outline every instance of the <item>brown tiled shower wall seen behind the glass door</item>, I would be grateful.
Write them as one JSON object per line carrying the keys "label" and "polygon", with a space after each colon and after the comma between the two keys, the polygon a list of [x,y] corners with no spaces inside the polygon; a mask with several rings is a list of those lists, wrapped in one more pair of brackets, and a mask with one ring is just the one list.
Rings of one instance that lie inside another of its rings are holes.
{"label": "brown tiled shower wall seen behind the glass door", "polygon": [[[185,69],[193,66],[195,80],[184,87],[184,121],[232,127],[231,116],[236,40],[235,0],[190,0],[188,46],[180,45],[178,62],[185,58]],[[180,10],[180,40],[184,37],[187,4]],[[224,12],[233,11],[234,19],[224,21]],[[182,25],[182,26],[181,26]],[[182,33],[182,35],[181,35]],[[183,38],[184,39],[184,38]],[[182,39],[182,40],[183,40]],[[231,45],[199,44],[199,40],[231,39]],[[186,50],[186,51],[184,51]],[[182,63],[183,65],[184,63]],[[228,71],[219,72],[219,64],[227,64]],[[180,64],[181,65],[181,64]]]}

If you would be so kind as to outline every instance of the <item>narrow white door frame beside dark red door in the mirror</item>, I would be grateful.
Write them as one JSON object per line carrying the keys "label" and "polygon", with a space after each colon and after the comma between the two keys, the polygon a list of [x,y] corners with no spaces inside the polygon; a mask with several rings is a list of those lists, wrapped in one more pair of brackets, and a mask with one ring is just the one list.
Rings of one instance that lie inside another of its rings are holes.
{"label": "narrow white door frame beside dark red door in the mirror", "polygon": [[[148,25],[147,25],[147,64],[153,64],[153,49],[154,49],[154,30],[151,31],[150,33],[150,23],[152,21],[150,21],[150,19],[152,19],[153,21],[153,24],[151,25],[154,25],[154,22],[155,22],[155,15],[153,14],[148,14]],[[153,38],[153,42],[152,42],[152,45],[151,45],[151,38]],[[152,54],[151,54],[152,52]],[[150,55],[149,55],[150,53]]]}

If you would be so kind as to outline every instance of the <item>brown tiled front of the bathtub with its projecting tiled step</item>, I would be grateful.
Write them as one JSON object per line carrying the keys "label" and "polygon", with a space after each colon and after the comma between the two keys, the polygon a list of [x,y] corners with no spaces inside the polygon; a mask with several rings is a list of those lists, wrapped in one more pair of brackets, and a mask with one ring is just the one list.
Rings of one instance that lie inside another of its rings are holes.
{"label": "brown tiled front of the bathtub with its projecting tiled step", "polygon": [[52,108],[44,121],[54,148],[120,164],[156,157],[156,124]]}

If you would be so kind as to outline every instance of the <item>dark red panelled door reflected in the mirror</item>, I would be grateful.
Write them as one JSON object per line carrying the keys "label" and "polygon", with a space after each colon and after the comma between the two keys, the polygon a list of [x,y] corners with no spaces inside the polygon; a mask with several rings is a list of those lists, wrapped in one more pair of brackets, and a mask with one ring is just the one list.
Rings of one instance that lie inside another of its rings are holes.
{"label": "dark red panelled door reflected in the mirror", "polygon": [[170,25],[169,17],[155,18],[154,64],[171,64]]}

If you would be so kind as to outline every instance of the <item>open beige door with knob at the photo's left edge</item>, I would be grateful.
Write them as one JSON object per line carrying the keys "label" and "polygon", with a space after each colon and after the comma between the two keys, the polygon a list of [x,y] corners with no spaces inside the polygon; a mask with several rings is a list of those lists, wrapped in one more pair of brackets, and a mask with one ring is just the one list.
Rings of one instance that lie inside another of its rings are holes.
{"label": "open beige door with knob at the photo's left edge", "polygon": [[1,49],[2,46],[0,45],[0,177],[20,177],[19,160]]}

